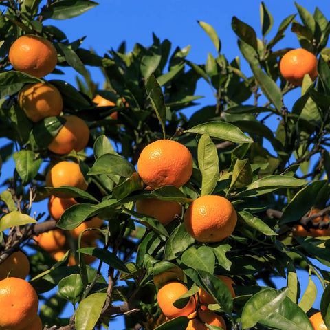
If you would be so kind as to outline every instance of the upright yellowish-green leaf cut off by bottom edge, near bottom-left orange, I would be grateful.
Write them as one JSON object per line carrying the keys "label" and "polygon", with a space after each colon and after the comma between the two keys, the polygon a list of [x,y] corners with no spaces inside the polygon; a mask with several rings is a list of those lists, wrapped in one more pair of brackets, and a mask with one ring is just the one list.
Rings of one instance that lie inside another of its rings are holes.
{"label": "upright yellowish-green leaf cut off by bottom edge, near bottom-left orange", "polygon": [[77,330],[93,330],[102,311],[106,293],[91,294],[80,302],[76,311]]}

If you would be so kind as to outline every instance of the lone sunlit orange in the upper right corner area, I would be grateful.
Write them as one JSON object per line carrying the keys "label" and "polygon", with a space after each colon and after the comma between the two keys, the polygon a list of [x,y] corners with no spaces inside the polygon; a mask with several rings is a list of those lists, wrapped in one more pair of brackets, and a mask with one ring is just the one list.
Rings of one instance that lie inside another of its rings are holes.
{"label": "lone sunlit orange in the upper right corner area", "polygon": [[289,50],[281,59],[280,71],[289,83],[296,86],[303,84],[305,74],[309,74],[311,80],[318,76],[318,59],[314,54],[303,48]]}

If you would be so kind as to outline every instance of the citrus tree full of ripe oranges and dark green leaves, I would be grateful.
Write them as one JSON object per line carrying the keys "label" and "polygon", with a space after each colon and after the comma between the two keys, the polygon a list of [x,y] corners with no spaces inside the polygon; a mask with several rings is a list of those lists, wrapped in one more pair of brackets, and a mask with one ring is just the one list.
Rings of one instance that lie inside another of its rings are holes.
{"label": "citrus tree full of ripe oranges and dark green leaves", "polygon": [[[199,21],[217,56],[197,64],[155,35],[102,56],[50,23],[95,5],[1,1],[0,329],[329,328],[330,22],[296,3],[276,30],[262,2],[261,36],[232,18],[232,59]],[[278,49],[290,30],[301,48]],[[200,79],[214,100],[186,118]]]}

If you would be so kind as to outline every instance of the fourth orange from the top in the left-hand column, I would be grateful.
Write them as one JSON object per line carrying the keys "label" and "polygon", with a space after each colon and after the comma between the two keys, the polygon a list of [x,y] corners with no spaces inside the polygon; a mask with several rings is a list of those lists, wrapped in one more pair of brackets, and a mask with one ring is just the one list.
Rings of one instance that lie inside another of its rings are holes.
{"label": "fourth orange from the top in the left-hand column", "polygon": [[[72,162],[59,162],[55,164],[46,175],[46,186],[61,187],[71,186],[81,190],[87,189],[87,183],[81,173],[79,164]],[[61,195],[65,197],[65,195]]]}

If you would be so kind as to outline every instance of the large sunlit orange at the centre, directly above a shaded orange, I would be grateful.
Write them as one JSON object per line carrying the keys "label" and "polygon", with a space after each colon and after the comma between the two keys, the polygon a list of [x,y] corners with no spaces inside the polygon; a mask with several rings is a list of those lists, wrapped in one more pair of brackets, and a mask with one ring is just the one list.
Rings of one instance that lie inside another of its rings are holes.
{"label": "large sunlit orange at the centre, directly above a shaded orange", "polygon": [[143,148],[137,160],[137,172],[153,189],[167,185],[179,188],[192,174],[192,155],[179,142],[157,140]]}

